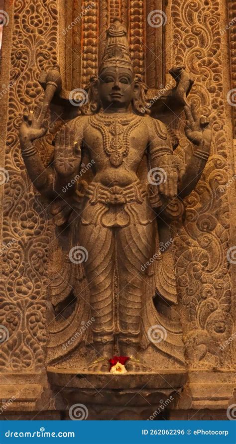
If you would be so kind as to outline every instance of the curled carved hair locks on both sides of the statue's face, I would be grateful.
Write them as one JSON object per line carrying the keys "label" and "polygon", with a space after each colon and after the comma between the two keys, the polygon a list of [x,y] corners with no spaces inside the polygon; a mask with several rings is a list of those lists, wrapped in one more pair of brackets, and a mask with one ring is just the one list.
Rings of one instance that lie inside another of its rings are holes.
{"label": "curled carved hair locks on both sides of the statue's face", "polygon": [[[96,114],[102,109],[102,103],[99,99],[99,95],[94,88],[95,83],[98,81],[97,77],[91,77],[89,85],[85,88],[88,93],[88,101],[81,107],[81,113],[83,115]],[[132,111],[134,114],[145,115],[150,114],[149,107],[146,102],[147,85],[142,81],[141,76],[135,75],[134,83],[138,83],[140,87],[140,93],[138,99],[132,99]]]}

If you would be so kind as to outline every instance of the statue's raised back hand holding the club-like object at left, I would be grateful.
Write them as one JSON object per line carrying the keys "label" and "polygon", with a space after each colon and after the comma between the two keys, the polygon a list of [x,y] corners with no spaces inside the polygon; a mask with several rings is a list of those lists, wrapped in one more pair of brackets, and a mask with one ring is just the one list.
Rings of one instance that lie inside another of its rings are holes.
{"label": "statue's raised back hand holding the club-like object at left", "polygon": [[47,132],[49,120],[46,117],[48,106],[40,102],[35,111],[25,111],[20,125],[20,142],[24,149],[28,142],[42,137]]}

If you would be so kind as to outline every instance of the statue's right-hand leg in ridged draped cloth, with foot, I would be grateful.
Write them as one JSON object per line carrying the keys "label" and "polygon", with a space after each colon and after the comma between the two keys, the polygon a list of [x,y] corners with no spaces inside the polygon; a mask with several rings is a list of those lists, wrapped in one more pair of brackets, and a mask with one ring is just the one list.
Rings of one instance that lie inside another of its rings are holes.
{"label": "statue's right-hand leg in ridged draped cloth, with foot", "polygon": [[[118,313],[119,313],[119,346],[124,355],[137,355],[140,341],[140,321],[143,308],[145,275],[141,270],[153,255],[155,222],[148,225],[133,225],[118,230]],[[131,362],[130,362],[131,364]],[[133,370],[144,368],[135,363]]]}

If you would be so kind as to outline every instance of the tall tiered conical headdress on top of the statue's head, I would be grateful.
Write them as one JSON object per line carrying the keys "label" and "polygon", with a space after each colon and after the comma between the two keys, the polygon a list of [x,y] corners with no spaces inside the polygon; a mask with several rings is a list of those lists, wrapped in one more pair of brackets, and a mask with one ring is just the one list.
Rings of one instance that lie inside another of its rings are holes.
{"label": "tall tiered conical headdress on top of the statue's head", "polygon": [[133,71],[128,48],[127,30],[119,18],[116,18],[107,30],[106,46],[99,72],[101,73],[110,66],[128,68]]}

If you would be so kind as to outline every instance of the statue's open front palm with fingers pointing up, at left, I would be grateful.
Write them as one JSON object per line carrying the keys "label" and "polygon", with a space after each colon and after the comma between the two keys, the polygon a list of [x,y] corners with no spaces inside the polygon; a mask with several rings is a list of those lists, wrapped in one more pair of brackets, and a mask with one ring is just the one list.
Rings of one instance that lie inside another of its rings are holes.
{"label": "statue's open front palm with fingers pointing up, at left", "polygon": [[76,173],[80,166],[81,150],[75,142],[75,133],[68,125],[56,134],[54,166],[60,176]]}

